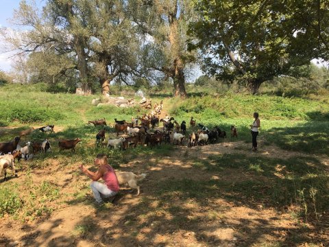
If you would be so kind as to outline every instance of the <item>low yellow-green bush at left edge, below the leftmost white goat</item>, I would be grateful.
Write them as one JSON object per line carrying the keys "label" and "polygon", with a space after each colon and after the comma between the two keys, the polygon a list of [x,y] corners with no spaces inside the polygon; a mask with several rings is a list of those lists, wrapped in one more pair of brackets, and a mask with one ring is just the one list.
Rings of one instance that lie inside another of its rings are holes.
{"label": "low yellow-green bush at left edge, below the leftmost white goat", "polygon": [[8,186],[0,187],[0,217],[6,213],[9,215],[15,214],[22,207],[21,198]]}

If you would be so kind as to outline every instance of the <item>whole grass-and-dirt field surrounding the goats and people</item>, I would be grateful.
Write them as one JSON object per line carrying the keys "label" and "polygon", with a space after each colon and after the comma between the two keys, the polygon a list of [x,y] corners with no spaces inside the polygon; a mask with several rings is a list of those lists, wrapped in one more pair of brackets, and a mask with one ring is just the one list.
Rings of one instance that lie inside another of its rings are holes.
{"label": "whole grass-and-dirt field surrounding the goats and people", "polygon": [[[56,126],[55,133],[36,131],[22,141],[47,138],[51,153],[21,161],[19,178],[0,181],[0,217],[6,222],[1,232],[10,232],[10,226],[17,230],[16,235],[3,235],[0,246],[13,241],[22,246],[51,245],[52,238],[57,246],[77,242],[325,246],[329,242],[328,97],[226,93],[182,100],[152,95],[152,102],[163,99],[166,112],[179,122],[189,122],[193,116],[208,128],[226,130],[228,138],[192,149],[170,144],[127,151],[95,148],[100,127],[87,122],[105,117],[106,138],[114,137],[110,127],[114,118],[128,120],[144,110],[97,108],[91,105],[94,97],[47,93],[38,85],[0,86],[0,141],[10,141],[31,126]],[[248,128],[254,111],[260,113],[262,125],[257,154],[250,151]],[[230,138],[231,125],[238,128],[239,138]],[[58,152],[59,139],[75,137],[82,139],[75,154]],[[115,169],[148,174],[141,196],[123,189],[114,204],[93,206],[90,181],[77,165],[90,167],[102,152]],[[80,211],[82,215],[76,213]],[[95,217],[100,220],[95,222]],[[56,229],[52,235],[47,234],[49,227]]]}

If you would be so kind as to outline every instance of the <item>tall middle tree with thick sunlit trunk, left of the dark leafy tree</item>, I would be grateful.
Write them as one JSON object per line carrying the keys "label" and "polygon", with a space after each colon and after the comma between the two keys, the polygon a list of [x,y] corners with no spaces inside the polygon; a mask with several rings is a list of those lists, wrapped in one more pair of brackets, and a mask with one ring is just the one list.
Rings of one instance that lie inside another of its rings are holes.
{"label": "tall middle tree with thick sunlit trunk, left of the dark leafy tree", "polygon": [[195,18],[191,1],[145,0],[130,6],[136,27],[148,40],[144,66],[163,73],[164,80],[172,78],[175,96],[186,97],[184,70],[196,59],[186,49],[188,23]]}

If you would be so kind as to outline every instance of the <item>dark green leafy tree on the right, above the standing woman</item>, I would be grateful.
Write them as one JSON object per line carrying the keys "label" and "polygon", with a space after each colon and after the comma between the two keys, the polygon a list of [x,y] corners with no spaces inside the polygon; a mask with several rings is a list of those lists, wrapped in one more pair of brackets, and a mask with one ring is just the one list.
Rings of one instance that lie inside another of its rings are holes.
{"label": "dark green leafy tree on the right, above the standing woman", "polygon": [[310,64],[317,57],[312,49],[298,49],[301,27],[294,25],[294,13],[282,8],[287,2],[297,5],[274,0],[195,1],[202,18],[191,25],[190,32],[198,39],[190,41],[189,49],[206,54],[206,73],[227,82],[239,80],[257,93],[263,82],[289,75],[291,67]]}

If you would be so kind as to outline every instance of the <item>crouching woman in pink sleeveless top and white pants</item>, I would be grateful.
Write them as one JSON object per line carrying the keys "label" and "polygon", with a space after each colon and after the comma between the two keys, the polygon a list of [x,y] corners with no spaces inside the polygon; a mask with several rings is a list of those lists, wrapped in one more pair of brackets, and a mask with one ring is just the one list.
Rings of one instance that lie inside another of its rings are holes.
{"label": "crouching woman in pink sleeveless top and white pants", "polygon": [[[108,164],[108,158],[106,154],[97,154],[94,165],[98,165],[99,169],[97,172],[91,172],[83,165],[80,166],[81,171],[88,176],[93,182],[90,183],[90,188],[93,191],[94,198],[97,204],[103,204],[101,196],[109,198],[115,196],[120,187],[117,175],[114,169]],[[103,178],[103,183],[97,182],[99,178]]]}

